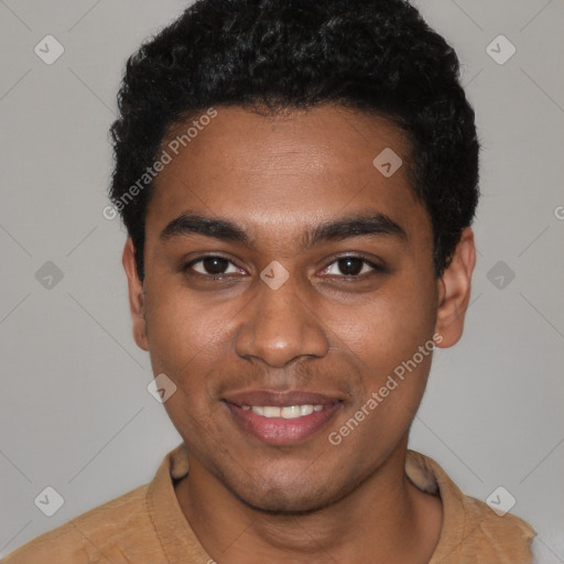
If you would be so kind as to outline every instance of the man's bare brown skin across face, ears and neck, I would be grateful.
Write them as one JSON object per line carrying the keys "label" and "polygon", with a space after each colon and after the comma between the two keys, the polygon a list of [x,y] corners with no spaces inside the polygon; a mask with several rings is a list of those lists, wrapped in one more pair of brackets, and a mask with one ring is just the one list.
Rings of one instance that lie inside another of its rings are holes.
{"label": "man's bare brown skin across face, ears and neck", "polygon": [[[384,148],[404,161],[390,178],[372,166]],[[408,159],[397,127],[341,107],[286,117],[218,108],[156,180],[143,285],[131,240],[126,245],[135,341],[150,351],[154,373],[177,386],[164,405],[189,455],[178,503],[221,564],[416,564],[433,554],[441,500],[404,474],[431,356],[340,445],[327,438],[435,332],[442,347],[463,332],[473,232],[464,229],[451,265],[435,279],[431,223],[409,185]],[[202,235],[160,240],[169,221],[188,210],[237,223],[252,247]],[[300,243],[306,228],[367,212],[389,216],[406,239]],[[224,280],[209,280],[202,262],[183,272],[213,253],[234,262]],[[358,253],[387,270],[360,263],[351,280],[336,260]],[[275,291],[259,278],[273,260],[290,273]],[[314,391],[343,404],[302,443],[271,446],[241,431],[221,401],[252,389]]]}

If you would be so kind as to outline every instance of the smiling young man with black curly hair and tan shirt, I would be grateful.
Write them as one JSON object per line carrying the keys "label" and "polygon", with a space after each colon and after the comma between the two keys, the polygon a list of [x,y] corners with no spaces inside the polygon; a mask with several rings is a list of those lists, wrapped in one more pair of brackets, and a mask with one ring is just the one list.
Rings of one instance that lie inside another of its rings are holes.
{"label": "smiling young man with black curly hair and tan shirt", "polygon": [[474,111],[402,0],[202,0],[128,62],[111,199],[183,444],[7,564],[529,563],[408,451],[463,333]]}

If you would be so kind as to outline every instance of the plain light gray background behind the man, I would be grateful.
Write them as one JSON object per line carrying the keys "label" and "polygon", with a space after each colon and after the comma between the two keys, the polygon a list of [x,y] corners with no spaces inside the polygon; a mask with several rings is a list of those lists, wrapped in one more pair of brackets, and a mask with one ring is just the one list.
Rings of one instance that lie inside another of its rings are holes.
{"label": "plain light gray background behind the man", "polygon": [[[131,337],[124,231],[101,210],[124,59],[185,6],[0,1],[0,555],[149,481],[180,443]],[[419,6],[462,59],[484,152],[466,333],[436,355],[411,448],[468,495],[503,486],[543,562],[564,562],[564,0]],[[34,53],[47,34],[65,48],[52,65]],[[517,47],[503,65],[486,52],[499,34]],[[53,517],[34,505],[46,486]]]}

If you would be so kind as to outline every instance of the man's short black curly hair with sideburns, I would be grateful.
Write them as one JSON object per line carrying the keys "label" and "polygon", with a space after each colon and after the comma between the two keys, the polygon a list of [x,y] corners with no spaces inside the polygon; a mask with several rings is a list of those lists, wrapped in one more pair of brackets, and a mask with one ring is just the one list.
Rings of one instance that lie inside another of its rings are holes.
{"label": "man's short black curly hair with sideburns", "polygon": [[198,0],[129,58],[118,95],[110,199],[140,280],[152,185],[123,196],[171,128],[210,107],[324,104],[390,118],[406,134],[442,275],[478,202],[475,115],[454,50],[404,0]]}

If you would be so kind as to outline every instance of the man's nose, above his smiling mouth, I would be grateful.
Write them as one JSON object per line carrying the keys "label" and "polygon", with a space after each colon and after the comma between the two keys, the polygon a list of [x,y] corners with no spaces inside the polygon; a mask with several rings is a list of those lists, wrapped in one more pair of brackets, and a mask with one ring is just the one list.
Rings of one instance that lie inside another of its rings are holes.
{"label": "man's nose, above his smiling mouth", "polygon": [[290,279],[272,290],[261,280],[254,299],[242,312],[236,350],[242,358],[258,358],[273,368],[283,368],[297,357],[322,358],[329,350],[323,322],[297,293]]}

